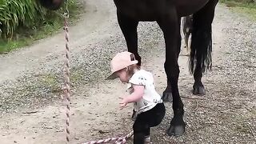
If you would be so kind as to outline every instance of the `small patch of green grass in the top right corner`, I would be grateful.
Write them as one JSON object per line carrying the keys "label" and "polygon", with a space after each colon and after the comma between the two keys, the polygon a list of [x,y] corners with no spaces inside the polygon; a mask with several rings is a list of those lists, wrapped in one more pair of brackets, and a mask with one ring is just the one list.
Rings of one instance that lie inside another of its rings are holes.
{"label": "small patch of green grass in the top right corner", "polygon": [[230,7],[230,10],[256,20],[256,2],[246,0],[220,0],[220,2]]}

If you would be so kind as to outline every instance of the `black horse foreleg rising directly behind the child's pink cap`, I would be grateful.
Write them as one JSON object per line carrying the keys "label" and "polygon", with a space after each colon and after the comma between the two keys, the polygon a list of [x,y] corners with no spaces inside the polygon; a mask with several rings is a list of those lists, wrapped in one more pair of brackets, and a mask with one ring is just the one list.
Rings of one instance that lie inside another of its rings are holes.
{"label": "black horse foreleg rising directly behind the child's pink cap", "polygon": [[118,12],[118,24],[122,30],[122,34],[126,38],[126,45],[128,51],[133,53],[138,60],[138,65],[141,65],[141,57],[138,54],[138,33],[137,26],[138,21],[133,18]]}

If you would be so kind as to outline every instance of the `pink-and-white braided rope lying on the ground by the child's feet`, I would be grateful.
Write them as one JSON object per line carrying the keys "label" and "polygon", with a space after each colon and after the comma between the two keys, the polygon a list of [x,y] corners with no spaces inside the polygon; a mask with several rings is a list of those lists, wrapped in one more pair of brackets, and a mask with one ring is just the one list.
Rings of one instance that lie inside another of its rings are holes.
{"label": "pink-and-white braided rope lying on the ground by the child's feet", "polygon": [[86,143],[82,143],[82,144],[98,144],[98,143],[106,143],[106,142],[114,142],[116,144],[124,144],[124,143],[126,143],[126,139],[130,138],[132,135],[134,135],[134,131],[131,131],[125,137],[106,138],[106,139],[102,139],[102,140],[98,140],[98,141],[86,142]]}

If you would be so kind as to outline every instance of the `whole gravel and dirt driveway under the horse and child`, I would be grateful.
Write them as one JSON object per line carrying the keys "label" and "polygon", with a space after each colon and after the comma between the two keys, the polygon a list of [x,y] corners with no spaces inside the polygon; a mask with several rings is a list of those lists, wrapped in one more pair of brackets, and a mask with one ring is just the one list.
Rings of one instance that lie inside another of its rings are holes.
{"label": "whole gravel and dirt driveway under the horse and child", "polygon": [[[165,89],[164,42],[155,22],[138,26],[142,67],[154,74],[159,93]],[[187,122],[182,137],[167,137],[172,110],[152,130],[153,143],[255,143],[256,24],[218,6],[213,26],[214,66],[203,81],[202,100],[183,98]],[[63,34],[0,57],[1,143],[64,143],[65,109],[58,92],[62,80]],[[86,14],[70,28],[72,51],[71,143],[123,135],[131,130],[131,107],[118,110],[126,86],[103,81],[113,54],[126,50],[114,3],[86,0]],[[182,53],[185,52],[182,51]],[[187,57],[179,58],[182,96],[191,94],[193,78]],[[197,97],[198,98],[198,97]],[[34,112],[34,114],[26,114]],[[100,134],[99,130],[105,132]]]}

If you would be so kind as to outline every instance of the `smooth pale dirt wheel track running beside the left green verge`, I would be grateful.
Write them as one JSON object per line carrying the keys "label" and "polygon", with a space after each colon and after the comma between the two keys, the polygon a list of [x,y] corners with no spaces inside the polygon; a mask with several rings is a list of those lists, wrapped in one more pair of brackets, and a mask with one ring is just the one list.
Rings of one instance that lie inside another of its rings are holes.
{"label": "smooth pale dirt wheel track running beside the left green verge", "polygon": [[[86,13],[82,14],[82,21],[76,26],[70,27],[70,46],[80,50],[79,47],[94,41],[94,33],[102,32],[109,25],[110,9],[112,5],[98,1],[85,1]],[[97,33],[98,34],[98,33]],[[99,33],[100,34],[100,33]],[[98,35],[98,38],[101,38]],[[52,60],[62,57],[63,34],[57,34],[53,38],[46,38],[34,46],[13,52],[0,57],[0,82],[15,79],[22,74],[33,70],[42,69],[42,65],[53,65]],[[54,57],[54,58],[52,58]],[[51,64],[47,63],[50,62]]]}

